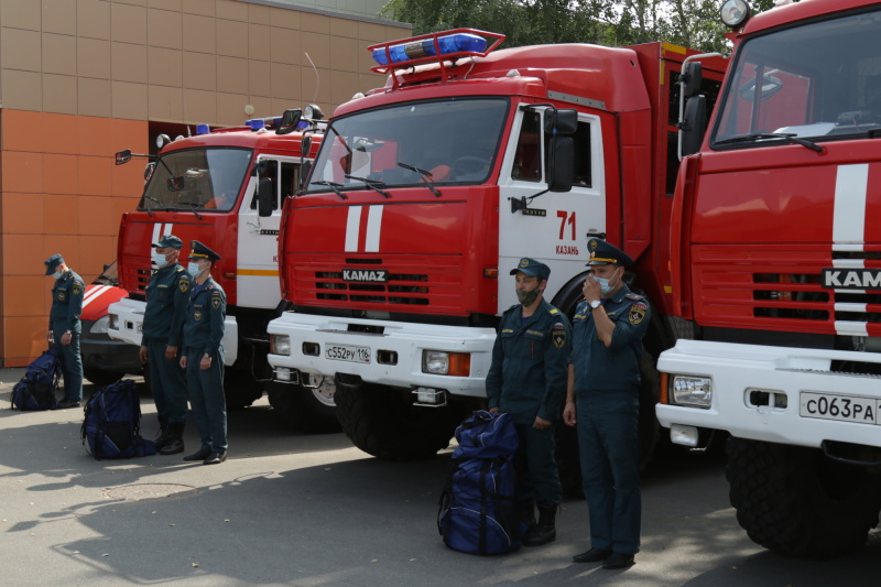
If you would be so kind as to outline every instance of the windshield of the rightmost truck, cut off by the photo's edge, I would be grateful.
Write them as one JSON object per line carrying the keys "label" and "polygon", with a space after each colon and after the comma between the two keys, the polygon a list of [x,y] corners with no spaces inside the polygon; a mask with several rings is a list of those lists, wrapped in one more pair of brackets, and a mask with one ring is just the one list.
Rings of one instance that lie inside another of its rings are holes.
{"label": "windshield of the rightmost truck, cut off by the photo's edge", "polygon": [[881,10],[875,9],[746,41],[710,144],[820,141],[878,131],[880,37]]}

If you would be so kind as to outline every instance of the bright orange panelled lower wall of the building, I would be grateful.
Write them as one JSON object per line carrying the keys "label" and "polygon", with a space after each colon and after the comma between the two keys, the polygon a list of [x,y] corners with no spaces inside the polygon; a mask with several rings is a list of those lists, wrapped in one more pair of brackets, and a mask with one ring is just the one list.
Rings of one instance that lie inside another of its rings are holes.
{"label": "bright orange panelled lower wall of the building", "polygon": [[22,367],[45,350],[52,278],[62,253],[86,283],[116,259],[119,218],[138,203],[143,169],[115,165],[148,150],[148,123],[0,111],[0,357]]}

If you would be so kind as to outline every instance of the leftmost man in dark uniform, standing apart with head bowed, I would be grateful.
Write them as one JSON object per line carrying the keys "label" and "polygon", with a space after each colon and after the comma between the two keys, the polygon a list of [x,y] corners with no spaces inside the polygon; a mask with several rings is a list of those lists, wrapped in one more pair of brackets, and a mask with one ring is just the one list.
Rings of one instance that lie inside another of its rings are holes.
{"label": "leftmost man in dark uniform, standing apart with head bowed", "polygon": [[55,344],[64,376],[64,398],[58,407],[79,407],[83,400],[83,357],[79,355],[83,327],[79,315],[86,285],[83,278],[65,264],[61,254],[53,254],[43,264],[46,265],[46,275],[55,278],[46,338]]}

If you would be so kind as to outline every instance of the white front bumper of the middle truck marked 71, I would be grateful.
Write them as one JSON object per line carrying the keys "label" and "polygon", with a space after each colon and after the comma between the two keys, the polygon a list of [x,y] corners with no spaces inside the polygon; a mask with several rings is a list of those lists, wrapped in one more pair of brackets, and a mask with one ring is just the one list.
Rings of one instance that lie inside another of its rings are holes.
{"label": "white front bumper of the middle truck marked 71", "polygon": [[[382,327],[382,334],[349,331],[349,326]],[[358,376],[367,383],[399,388],[432,388],[452,395],[486,398],[486,377],[492,361],[496,330],[461,326],[438,326],[403,322],[359,318],[335,318],[285,312],[269,323],[270,335],[291,339],[291,356],[269,355],[269,363],[305,373],[333,377],[336,373]],[[317,356],[303,355],[304,344],[318,345]],[[328,345],[367,347],[369,363],[328,359]],[[471,355],[469,377],[449,377],[422,372],[423,350],[468,352]],[[377,362],[379,357],[396,354],[394,365]]]}

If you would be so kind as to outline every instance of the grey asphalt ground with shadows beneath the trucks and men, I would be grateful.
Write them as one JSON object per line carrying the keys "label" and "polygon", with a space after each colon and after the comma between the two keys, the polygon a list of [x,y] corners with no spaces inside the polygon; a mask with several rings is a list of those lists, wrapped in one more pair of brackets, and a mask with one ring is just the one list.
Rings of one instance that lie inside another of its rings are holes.
{"label": "grey asphalt ground with shadows beneath the trucks and men", "polygon": [[[8,409],[22,369],[0,370],[3,585],[877,586],[881,533],[835,561],[800,561],[750,542],[728,503],[724,457],[661,456],[643,478],[643,543],[627,570],[574,564],[587,507],[566,499],[557,541],[480,557],[436,528],[449,450],[385,463],[342,434],[286,430],[265,398],[229,414],[229,460],[183,455],[95,460],[81,410]],[[86,395],[93,391],[87,385]],[[156,431],[141,395],[145,437]],[[195,426],[187,453],[198,448]],[[185,453],[185,454],[187,454]]]}

